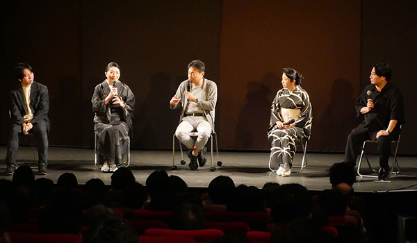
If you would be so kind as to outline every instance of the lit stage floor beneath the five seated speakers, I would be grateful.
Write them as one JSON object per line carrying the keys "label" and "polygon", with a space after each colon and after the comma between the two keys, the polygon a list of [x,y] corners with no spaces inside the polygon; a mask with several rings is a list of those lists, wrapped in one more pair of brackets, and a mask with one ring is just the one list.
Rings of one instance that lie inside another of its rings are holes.
{"label": "lit stage floor beneath the five seated speakers", "polygon": [[[33,153],[34,152],[34,153]],[[215,171],[210,171],[210,156],[207,154],[208,165],[199,168],[197,171],[188,169],[187,164],[180,165],[180,152],[175,153],[177,171],[172,171],[172,151],[131,151],[131,165],[129,169],[133,171],[136,180],[145,185],[147,176],[154,170],[165,170],[170,175],[177,175],[183,178],[189,187],[208,187],[213,178],[216,176],[230,176],[236,185],[254,185],[263,187],[265,183],[276,182],[279,184],[300,183],[309,190],[325,190],[330,188],[327,171],[334,162],[341,162],[343,154],[331,153],[307,153],[308,166],[300,173],[293,173],[290,177],[277,176],[268,169],[268,152],[220,152],[219,159],[222,166],[218,167],[214,156]],[[186,157],[186,154],[184,153]],[[17,153],[17,162],[19,165],[29,164],[36,166],[37,151],[30,146],[21,146]],[[6,147],[0,146],[0,170],[4,171],[6,165]],[[35,159],[34,159],[35,158]],[[58,177],[65,173],[74,173],[79,184],[84,184],[91,178],[100,178],[110,185],[111,174],[102,173],[99,167],[94,165],[94,150],[66,147],[49,148],[49,167],[48,175],[54,183]],[[300,165],[302,154],[295,155],[294,165]],[[391,158],[392,159],[392,158]],[[371,164],[378,166],[377,157],[372,157]],[[390,160],[391,163],[392,160]],[[385,192],[387,190],[417,190],[417,158],[415,157],[398,157],[401,171],[398,177],[391,176],[389,182],[375,181],[373,178],[359,178],[354,184],[356,192]],[[363,167],[363,172],[369,172],[369,169]],[[38,169],[34,168],[35,173]],[[12,176],[3,176],[0,178],[11,180]],[[36,175],[35,178],[40,178]]]}

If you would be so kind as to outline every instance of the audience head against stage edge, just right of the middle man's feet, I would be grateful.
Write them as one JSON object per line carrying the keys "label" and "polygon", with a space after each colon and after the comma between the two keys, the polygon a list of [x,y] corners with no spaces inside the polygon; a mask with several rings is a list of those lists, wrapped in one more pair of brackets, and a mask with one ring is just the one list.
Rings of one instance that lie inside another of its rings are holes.
{"label": "audience head against stage edge, just right of the middle man's feet", "polygon": [[218,176],[208,185],[208,197],[213,204],[226,204],[234,190],[234,181],[229,176]]}

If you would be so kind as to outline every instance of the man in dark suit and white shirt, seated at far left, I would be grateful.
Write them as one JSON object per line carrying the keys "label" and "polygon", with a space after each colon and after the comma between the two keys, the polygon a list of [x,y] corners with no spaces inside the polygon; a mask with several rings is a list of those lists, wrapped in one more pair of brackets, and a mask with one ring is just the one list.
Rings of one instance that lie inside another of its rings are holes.
{"label": "man in dark suit and white shirt, seated at far left", "polygon": [[46,175],[50,127],[48,88],[34,82],[32,67],[27,63],[19,63],[15,67],[15,75],[20,83],[10,90],[10,131],[7,141],[7,169],[4,174],[15,173],[19,137],[22,134],[33,133],[38,140],[39,174]]}

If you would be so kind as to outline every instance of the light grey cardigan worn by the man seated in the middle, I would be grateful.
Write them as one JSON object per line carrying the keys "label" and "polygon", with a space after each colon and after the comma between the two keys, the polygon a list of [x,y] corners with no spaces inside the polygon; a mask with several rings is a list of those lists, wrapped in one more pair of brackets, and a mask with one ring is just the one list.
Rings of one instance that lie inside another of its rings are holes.
{"label": "light grey cardigan worn by the man seated in the middle", "polygon": [[[186,99],[187,92],[187,81],[182,81],[179,84],[178,90],[175,93],[175,97],[181,98],[181,116],[179,117],[179,122],[181,122],[185,108],[187,107],[188,100]],[[211,130],[214,132],[214,116],[215,116],[215,103],[217,103],[218,90],[217,85],[207,78],[204,78],[203,84],[203,97],[198,99],[197,106],[203,109],[204,114],[206,115],[208,123],[211,125]],[[180,103],[177,103],[176,106],[171,106],[171,109],[180,108]]]}

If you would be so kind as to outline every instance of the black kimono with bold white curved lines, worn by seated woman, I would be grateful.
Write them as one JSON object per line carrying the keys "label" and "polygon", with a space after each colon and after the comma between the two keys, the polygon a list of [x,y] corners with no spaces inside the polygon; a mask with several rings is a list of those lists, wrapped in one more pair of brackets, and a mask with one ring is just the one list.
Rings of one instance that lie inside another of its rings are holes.
{"label": "black kimono with bold white curved lines, worn by seated woman", "polygon": [[[277,121],[288,121],[295,119],[296,126],[286,129],[279,129]],[[293,92],[283,88],[277,92],[272,101],[270,129],[268,140],[271,144],[270,164],[291,169],[296,142],[301,137],[309,140],[311,133],[312,110],[309,94],[297,85]]]}

